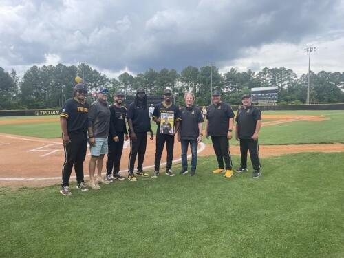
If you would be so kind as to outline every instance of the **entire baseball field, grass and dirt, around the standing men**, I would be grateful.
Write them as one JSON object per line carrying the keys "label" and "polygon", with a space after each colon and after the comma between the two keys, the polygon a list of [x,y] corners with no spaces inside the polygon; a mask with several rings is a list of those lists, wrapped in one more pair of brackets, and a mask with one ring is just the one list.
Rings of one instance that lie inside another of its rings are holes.
{"label": "entire baseball field, grass and dirt, around the standing men", "polygon": [[[58,193],[58,116],[0,118],[0,257],[344,257],[344,111],[262,115],[258,179],[250,162],[233,178],[213,175],[204,138],[195,177],[163,174],[85,193],[72,178],[69,197]],[[237,141],[230,145],[237,167]],[[123,175],[128,153],[126,143]],[[154,153],[155,140],[149,173]]]}

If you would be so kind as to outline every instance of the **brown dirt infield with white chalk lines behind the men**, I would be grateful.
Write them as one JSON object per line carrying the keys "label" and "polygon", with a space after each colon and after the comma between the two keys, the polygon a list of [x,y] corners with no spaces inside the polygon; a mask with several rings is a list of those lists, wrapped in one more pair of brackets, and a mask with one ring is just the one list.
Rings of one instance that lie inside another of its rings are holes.
{"label": "brown dirt infield with white chalk lines behind the men", "polygon": [[[292,116],[292,115],[264,115],[264,119],[273,120],[264,122],[263,126],[277,125],[285,122],[294,122],[301,120],[321,121],[327,120],[326,116]],[[52,119],[34,119],[34,120],[10,120],[0,121],[4,124],[20,124],[28,122],[51,122],[58,121],[58,118]],[[174,161],[180,159],[180,143],[175,141]],[[121,171],[126,173],[129,142],[125,143],[125,149],[122,155]],[[200,155],[214,155],[213,147],[208,144],[200,145]],[[272,155],[282,155],[286,153],[301,152],[342,152],[344,144],[303,144],[303,145],[268,145],[261,146],[260,156],[269,157]],[[239,154],[239,147],[230,147],[233,155]],[[151,169],[153,166],[155,154],[155,140],[148,140],[147,152],[144,158],[144,166]],[[61,182],[61,167],[63,164],[63,145],[61,138],[43,139],[28,136],[14,136],[0,134],[0,186],[45,186]],[[85,175],[88,171],[89,156],[85,161]],[[166,162],[166,150],[162,155],[162,162]],[[164,168],[162,168],[163,171]],[[103,169],[103,172],[105,168]],[[72,173],[74,176],[74,172]]]}

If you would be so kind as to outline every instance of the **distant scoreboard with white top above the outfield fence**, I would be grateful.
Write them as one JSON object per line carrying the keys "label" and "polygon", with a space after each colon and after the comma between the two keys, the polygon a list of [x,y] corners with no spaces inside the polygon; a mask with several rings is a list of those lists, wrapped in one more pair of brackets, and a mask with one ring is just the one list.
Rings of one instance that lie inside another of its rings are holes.
{"label": "distant scoreboard with white top above the outfield fence", "polygon": [[252,103],[258,105],[276,105],[278,87],[258,87],[251,89]]}

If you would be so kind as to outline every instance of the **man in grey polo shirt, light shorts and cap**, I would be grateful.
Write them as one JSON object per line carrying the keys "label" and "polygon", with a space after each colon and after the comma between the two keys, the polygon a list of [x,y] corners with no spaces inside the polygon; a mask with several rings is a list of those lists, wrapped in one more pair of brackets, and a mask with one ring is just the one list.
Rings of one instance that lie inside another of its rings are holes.
{"label": "man in grey polo shirt, light shorts and cap", "polygon": [[[91,160],[89,160],[89,186],[94,189],[100,189],[98,183],[108,183],[102,179],[102,169],[104,155],[107,154],[107,137],[110,129],[110,109],[107,104],[107,95],[109,91],[100,88],[98,99],[89,106],[88,113],[88,133],[89,133],[89,151]],[[98,171],[96,180],[94,172]]]}

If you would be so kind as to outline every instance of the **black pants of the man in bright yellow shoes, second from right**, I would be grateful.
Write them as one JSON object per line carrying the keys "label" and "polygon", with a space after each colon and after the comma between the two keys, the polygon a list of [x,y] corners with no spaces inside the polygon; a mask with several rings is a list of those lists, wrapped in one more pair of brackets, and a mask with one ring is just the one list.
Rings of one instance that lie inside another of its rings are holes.
{"label": "black pants of the man in bright yellow shoes, second from right", "polygon": [[213,142],[219,169],[224,169],[225,163],[226,170],[232,170],[232,159],[230,157],[229,142],[227,136],[211,136],[211,141]]}

